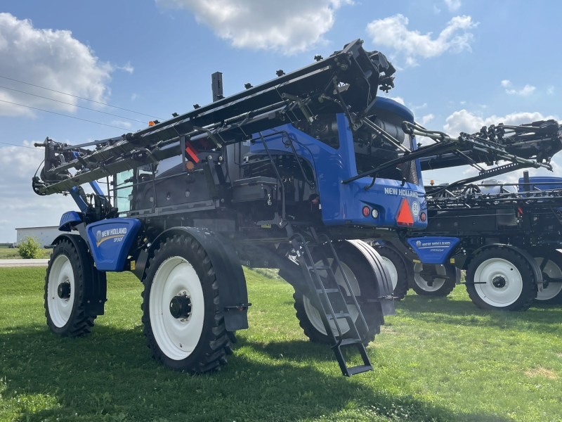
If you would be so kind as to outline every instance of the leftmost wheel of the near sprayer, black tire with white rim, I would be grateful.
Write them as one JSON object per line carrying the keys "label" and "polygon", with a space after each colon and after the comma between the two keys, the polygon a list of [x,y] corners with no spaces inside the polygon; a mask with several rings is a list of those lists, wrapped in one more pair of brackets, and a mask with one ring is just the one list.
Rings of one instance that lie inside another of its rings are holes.
{"label": "leftmost wheel of the near sprayer, black tire with white rim", "polygon": [[[47,326],[53,333],[79,337],[91,331],[96,316],[84,314],[84,288],[86,283],[92,282],[93,271],[97,270],[89,257],[84,256],[71,241],[63,239],[53,248],[43,297]],[[105,273],[101,274],[105,277]],[[61,284],[70,285],[65,291],[61,288],[63,297],[58,295]]]}

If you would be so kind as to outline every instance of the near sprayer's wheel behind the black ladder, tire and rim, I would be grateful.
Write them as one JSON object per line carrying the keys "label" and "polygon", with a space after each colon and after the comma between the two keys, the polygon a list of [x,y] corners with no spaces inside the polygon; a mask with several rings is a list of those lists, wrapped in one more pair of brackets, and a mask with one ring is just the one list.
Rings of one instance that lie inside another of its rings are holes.
{"label": "near sprayer's wheel behind the black ladder, tire and rim", "polygon": [[[360,309],[365,317],[367,326],[369,327],[369,332],[367,333],[367,337],[364,341],[365,345],[367,345],[374,340],[374,336],[376,334],[380,333],[381,324],[383,324],[384,321],[380,307],[377,307],[377,304],[374,302],[367,303],[366,298],[362,297],[362,294],[366,296],[367,292],[371,290],[369,286],[366,286],[364,283],[367,283],[370,279],[372,279],[372,270],[367,268],[365,262],[358,259],[358,257],[356,257],[353,253],[342,251],[338,252],[338,255],[341,267],[343,267],[346,273],[353,294],[358,299],[358,302],[362,302],[362,300],[365,299],[365,303],[360,304]],[[328,261],[332,264],[331,258]],[[321,264],[321,262],[319,261],[316,264]],[[327,276],[326,270],[319,272],[320,276]],[[344,295],[348,294],[348,287],[346,286],[344,276],[341,274],[339,269],[336,270],[335,275],[336,281],[338,282],[342,293],[344,293]],[[331,337],[327,335],[326,328],[322,323],[322,318],[320,317],[318,309],[312,305],[306,295],[303,295],[300,292],[296,291],[293,298],[294,308],[296,309],[296,318],[299,319],[299,324],[301,325],[301,328],[303,328],[304,334],[316,343],[331,344]],[[355,305],[348,305],[348,310],[353,318],[353,322],[357,321],[359,312]],[[350,327],[348,326],[346,319],[338,319],[338,324],[344,338],[351,335],[349,332]],[[330,321],[330,326],[334,335],[337,336],[338,332],[333,321]]]}

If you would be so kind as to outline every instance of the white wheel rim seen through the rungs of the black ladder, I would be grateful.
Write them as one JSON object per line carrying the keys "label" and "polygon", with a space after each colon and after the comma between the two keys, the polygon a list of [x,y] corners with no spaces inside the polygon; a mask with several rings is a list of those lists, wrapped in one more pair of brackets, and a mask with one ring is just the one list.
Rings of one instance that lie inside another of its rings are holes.
{"label": "white wheel rim seen through the rungs of the black ladder", "polygon": [[[332,264],[332,261],[332,258],[329,258],[328,262],[330,265]],[[316,262],[316,265],[322,265],[322,262]],[[357,279],[355,279],[355,274],[353,274],[353,271],[351,271],[351,269],[346,264],[344,264],[344,262],[341,262],[341,267],[344,268],[347,279],[349,281],[349,285],[351,286],[351,291],[353,291],[353,294],[356,297],[360,296],[361,290],[359,289],[359,283]],[[327,271],[325,269],[322,269],[322,271],[318,271],[318,273],[322,277],[327,276]],[[339,269],[336,271],[335,275],[338,285],[344,289],[344,292],[346,294],[349,294],[349,290],[346,286],[346,281],[344,280],[344,276],[343,274],[341,274],[341,271],[339,271]],[[311,321],[313,327],[316,328],[316,330],[320,331],[320,333],[327,335],[326,328],[324,326],[324,323],[322,323],[322,318],[320,317],[320,312],[318,312],[318,309],[313,307],[311,301],[306,296],[303,296],[303,304],[306,316],[308,316],[308,320]],[[357,321],[357,317],[359,316],[357,307],[355,307],[355,305],[347,305],[347,308],[349,310],[351,318],[353,319],[353,322]],[[338,318],[338,325],[341,329],[342,334],[345,334],[349,331],[349,324],[347,323],[347,320],[345,318]],[[334,333],[334,335],[338,335],[338,330],[336,328],[336,324],[334,324],[334,321],[330,320],[329,326],[332,328],[332,333]]]}

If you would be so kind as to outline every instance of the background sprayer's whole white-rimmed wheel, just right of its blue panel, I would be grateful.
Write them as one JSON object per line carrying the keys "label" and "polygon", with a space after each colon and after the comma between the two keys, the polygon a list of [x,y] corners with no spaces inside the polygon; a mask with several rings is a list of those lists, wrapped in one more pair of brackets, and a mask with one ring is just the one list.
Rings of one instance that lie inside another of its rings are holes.
{"label": "background sprayer's whole white-rimmed wheel, just right of its blue panel", "polygon": [[[485,284],[471,284],[475,281]],[[524,255],[511,248],[488,248],[469,262],[466,291],[480,309],[526,311],[537,297],[537,283]]]}

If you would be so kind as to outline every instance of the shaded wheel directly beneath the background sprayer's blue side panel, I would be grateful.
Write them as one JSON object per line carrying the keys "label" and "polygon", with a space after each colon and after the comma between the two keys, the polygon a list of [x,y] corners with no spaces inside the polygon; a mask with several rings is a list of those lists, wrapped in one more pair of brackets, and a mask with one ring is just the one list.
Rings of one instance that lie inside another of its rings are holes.
{"label": "shaded wheel directly beneath the background sprayer's blue side panel", "polygon": [[[421,271],[428,274],[421,274]],[[459,279],[457,267],[451,264],[414,263],[414,280],[412,289],[420,296],[445,298],[457,285]],[[440,276],[446,276],[446,279]],[[431,286],[430,286],[431,284]]]}

